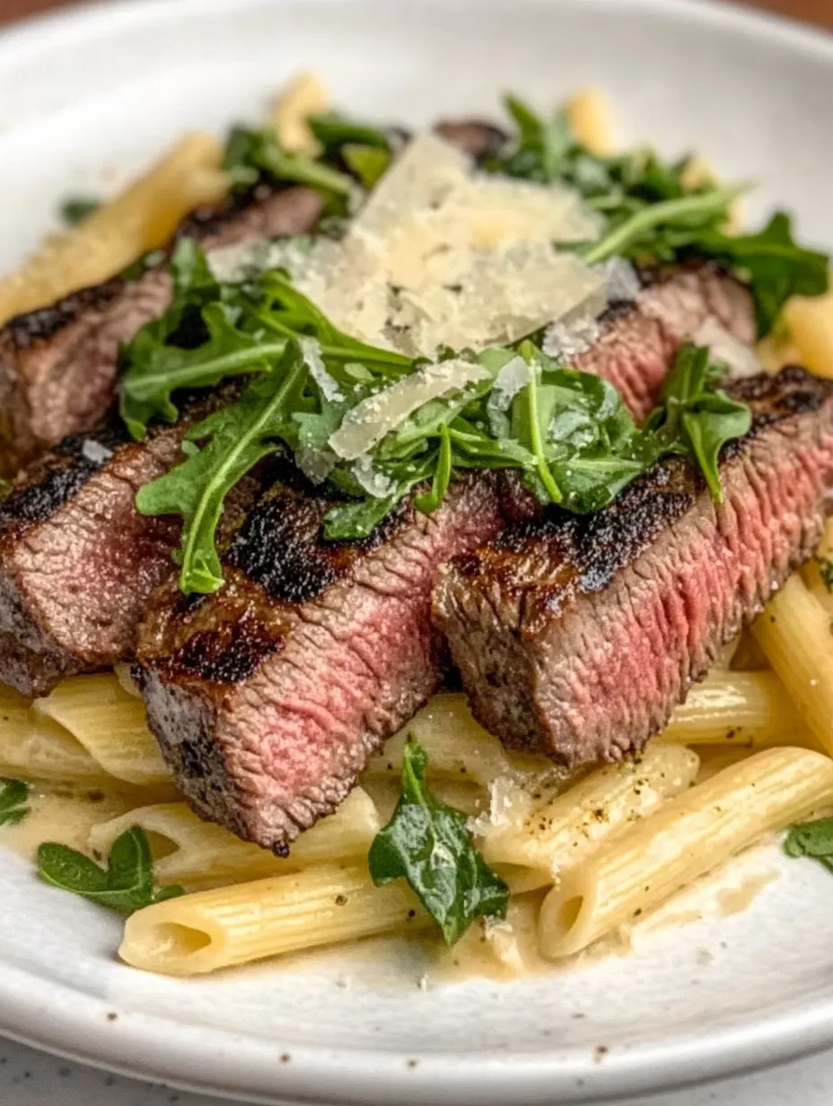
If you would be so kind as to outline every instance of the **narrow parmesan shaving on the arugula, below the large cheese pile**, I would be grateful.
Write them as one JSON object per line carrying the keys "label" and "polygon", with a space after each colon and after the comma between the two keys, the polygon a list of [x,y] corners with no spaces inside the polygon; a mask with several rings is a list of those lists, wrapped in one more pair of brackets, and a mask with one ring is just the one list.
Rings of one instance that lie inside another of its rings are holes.
{"label": "narrow parmesan shaving on the arugula, below the large cheese pile", "polygon": [[481,365],[468,361],[426,365],[348,410],[342,425],[330,436],[330,447],[344,460],[354,461],[424,404],[461,392],[488,375]]}

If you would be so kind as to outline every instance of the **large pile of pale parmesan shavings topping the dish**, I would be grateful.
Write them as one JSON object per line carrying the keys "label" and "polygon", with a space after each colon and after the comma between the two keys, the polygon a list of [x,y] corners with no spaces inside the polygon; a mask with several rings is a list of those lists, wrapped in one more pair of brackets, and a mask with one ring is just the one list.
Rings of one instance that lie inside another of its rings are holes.
{"label": "large pile of pale parmesan shavings topping the dish", "polygon": [[[257,263],[289,270],[353,337],[433,358],[442,346],[510,345],[565,315],[603,311],[610,267],[558,249],[593,240],[600,228],[572,189],[475,175],[460,150],[426,134],[340,241],[273,243]],[[239,251],[222,253],[223,272],[244,271]],[[215,257],[211,264],[217,272]]]}

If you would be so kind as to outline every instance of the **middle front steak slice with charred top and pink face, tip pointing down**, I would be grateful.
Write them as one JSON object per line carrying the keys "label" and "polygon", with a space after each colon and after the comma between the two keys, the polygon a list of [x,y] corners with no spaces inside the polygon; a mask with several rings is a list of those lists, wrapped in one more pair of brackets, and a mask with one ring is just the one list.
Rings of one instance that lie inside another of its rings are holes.
{"label": "middle front steak slice with charred top and pink face, tip pointing down", "polygon": [[332,505],[275,486],[225,557],[225,588],[189,601],[164,586],[138,634],[135,672],[179,790],[277,853],[437,689],[437,570],[504,521],[492,473],[455,483],[435,514],[404,505],[365,541],[322,541]]}

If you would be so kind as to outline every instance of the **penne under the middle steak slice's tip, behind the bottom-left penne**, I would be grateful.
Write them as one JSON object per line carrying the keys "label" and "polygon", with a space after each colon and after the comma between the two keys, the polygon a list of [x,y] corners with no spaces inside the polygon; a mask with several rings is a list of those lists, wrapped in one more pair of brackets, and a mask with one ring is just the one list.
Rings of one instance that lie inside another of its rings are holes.
{"label": "penne under the middle steak slice's tip, behind the bottom-left penne", "polygon": [[355,787],[334,814],[301,834],[285,859],[240,841],[222,826],[202,822],[185,803],[143,806],[101,823],[90,833],[90,847],[106,855],[116,837],[135,825],[148,835],[155,854],[154,872],[163,886],[239,883],[365,856],[382,828],[369,795]]}

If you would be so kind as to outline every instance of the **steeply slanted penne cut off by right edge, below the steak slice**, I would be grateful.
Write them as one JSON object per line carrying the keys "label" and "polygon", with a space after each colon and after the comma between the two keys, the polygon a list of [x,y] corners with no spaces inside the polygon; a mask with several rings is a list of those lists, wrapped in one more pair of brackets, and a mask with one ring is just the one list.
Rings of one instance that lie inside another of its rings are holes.
{"label": "steeply slanted penne cut off by right edge, below the steak slice", "polygon": [[795,708],[822,748],[833,752],[833,634],[830,615],[791,576],[752,625]]}

